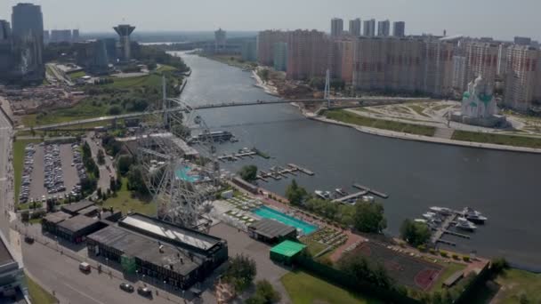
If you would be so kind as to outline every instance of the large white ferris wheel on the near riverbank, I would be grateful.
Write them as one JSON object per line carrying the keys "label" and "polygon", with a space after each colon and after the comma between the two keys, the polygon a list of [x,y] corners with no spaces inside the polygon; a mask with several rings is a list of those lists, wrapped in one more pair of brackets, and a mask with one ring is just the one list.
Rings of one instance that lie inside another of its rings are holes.
{"label": "large white ferris wheel on the near riverbank", "polygon": [[157,204],[157,217],[187,228],[203,228],[219,182],[213,134],[188,103],[165,96],[164,83],[164,99],[142,116],[137,162]]}

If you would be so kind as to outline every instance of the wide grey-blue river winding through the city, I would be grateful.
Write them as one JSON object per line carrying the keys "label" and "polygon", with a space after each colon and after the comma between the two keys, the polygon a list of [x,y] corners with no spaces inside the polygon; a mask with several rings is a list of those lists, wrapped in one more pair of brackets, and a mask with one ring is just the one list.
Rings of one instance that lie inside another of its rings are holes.
{"label": "wide grey-blue river winding through the city", "polygon": [[[276,99],[254,87],[251,73],[178,53],[192,69],[182,100],[190,104]],[[541,268],[541,156],[478,148],[396,140],[304,118],[297,108],[263,105],[202,111],[213,130],[228,130],[240,140],[220,145],[222,152],[256,147],[271,159],[244,164],[261,170],[295,163],[316,172],[296,177],[310,191],[347,188],[356,182],[390,195],[381,200],[387,232],[398,235],[406,218],[420,218],[433,205],[483,212],[489,220],[469,240],[445,236],[464,252],[505,256]],[[290,179],[262,183],[283,194]]]}

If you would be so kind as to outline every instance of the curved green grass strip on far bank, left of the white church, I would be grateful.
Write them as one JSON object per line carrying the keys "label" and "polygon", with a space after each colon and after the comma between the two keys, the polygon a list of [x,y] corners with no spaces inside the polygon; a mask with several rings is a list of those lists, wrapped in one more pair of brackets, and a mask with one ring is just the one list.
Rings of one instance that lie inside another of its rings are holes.
{"label": "curved green grass strip on far bank, left of the white church", "polygon": [[433,136],[436,128],[425,125],[405,124],[389,120],[376,119],[371,117],[359,116],[344,110],[331,110],[324,114],[327,118],[347,124],[358,124],[362,126],[384,129],[396,132],[405,132],[424,136]]}

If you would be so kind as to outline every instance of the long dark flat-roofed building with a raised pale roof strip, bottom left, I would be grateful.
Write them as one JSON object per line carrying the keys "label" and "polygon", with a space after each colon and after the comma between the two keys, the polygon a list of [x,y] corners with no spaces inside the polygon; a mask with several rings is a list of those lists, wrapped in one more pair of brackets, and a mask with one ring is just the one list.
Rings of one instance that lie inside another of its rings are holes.
{"label": "long dark flat-roofed building with a raised pale roof strip, bottom left", "polygon": [[90,257],[121,265],[125,274],[145,275],[188,289],[228,259],[227,242],[165,221],[132,214],[86,239]]}

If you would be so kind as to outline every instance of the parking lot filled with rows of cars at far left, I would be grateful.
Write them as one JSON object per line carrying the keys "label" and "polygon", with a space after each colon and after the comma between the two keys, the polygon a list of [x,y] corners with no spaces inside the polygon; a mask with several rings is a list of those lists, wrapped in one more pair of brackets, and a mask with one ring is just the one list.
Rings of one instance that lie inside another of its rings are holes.
{"label": "parking lot filled with rows of cars at far left", "polygon": [[[77,147],[75,144],[28,145],[25,150],[20,203],[80,195],[79,175],[85,176],[85,172],[80,156],[77,156]],[[77,167],[82,172],[77,172]]]}

